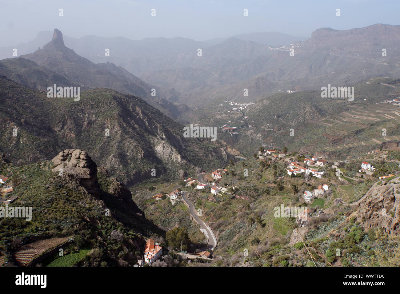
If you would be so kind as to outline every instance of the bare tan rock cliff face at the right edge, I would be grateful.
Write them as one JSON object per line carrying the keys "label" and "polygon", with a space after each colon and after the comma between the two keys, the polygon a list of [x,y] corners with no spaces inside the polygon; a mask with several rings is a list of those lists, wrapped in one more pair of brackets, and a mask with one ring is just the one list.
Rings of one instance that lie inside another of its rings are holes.
{"label": "bare tan rock cliff face at the right edge", "polygon": [[398,235],[400,232],[400,177],[390,182],[377,182],[364,197],[352,206],[356,211],[351,216],[364,226],[383,228],[388,234]]}

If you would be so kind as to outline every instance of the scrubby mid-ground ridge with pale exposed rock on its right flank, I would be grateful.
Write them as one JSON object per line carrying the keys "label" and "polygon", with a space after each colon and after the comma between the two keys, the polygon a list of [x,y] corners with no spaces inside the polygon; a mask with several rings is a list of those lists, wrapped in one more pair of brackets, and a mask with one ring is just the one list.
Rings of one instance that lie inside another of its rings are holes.
{"label": "scrubby mid-ground ridge with pale exposed rock on its right flank", "polygon": [[184,138],[183,125],[136,96],[90,89],[79,101],[47,98],[4,77],[0,89],[0,150],[18,164],[78,148],[130,186],[154,176],[177,178],[231,158],[218,141]]}

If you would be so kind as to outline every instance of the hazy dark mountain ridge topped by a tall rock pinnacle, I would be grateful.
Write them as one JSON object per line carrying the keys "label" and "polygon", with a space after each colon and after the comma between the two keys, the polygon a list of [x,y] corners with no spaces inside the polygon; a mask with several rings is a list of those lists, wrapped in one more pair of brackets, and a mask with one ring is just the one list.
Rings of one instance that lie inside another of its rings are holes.
{"label": "hazy dark mountain ridge topped by a tall rock pinnacle", "polygon": [[[36,64],[26,62],[25,59]],[[95,64],[79,56],[64,45],[62,33],[57,29],[54,29],[52,40],[42,49],[3,60],[0,69],[2,75],[38,90],[45,90],[56,82],[59,82],[59,86],[112,88],[118,92],[140,96],[172,118],[177,118],[181,111],[188,109],[184,105],[169,102],[164,98],[164,90],[143,82],[120,66],[109,62]],[[44,78],[46,76],[49,78]],[[156,96],[152,96],[153,88],[156,89]]]}

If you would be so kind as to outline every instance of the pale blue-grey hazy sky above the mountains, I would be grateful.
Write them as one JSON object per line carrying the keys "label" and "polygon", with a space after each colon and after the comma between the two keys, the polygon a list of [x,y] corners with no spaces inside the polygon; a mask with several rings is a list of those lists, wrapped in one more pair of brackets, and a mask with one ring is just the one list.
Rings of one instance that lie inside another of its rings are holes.
{"label": "pale blue-grey hazy sky above the mountains", "polygon": [[[335,15],[336,8],[341,16]],[[310,37],[324,27],[399,25],[399,12],[400,0],[0,0],[0,47],[54,28],[75,38],[180,36],[200,41],[250,32]]]}

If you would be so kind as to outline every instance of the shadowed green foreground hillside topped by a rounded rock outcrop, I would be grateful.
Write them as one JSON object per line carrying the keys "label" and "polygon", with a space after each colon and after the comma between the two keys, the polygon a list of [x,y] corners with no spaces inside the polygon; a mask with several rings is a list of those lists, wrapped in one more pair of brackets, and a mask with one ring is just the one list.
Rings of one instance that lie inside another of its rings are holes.
{"label": "shadowed green foreground hillside topped by a rounded rock outcrop", "polygon": [[[58,168],[52,171],[60,160],[65,164],[62,176]],[[144,218],[130,191],[97,168],[84,150],[65,150],[52,161],[20,167],[1,157],[0,173],[10,177],[12,196],[18,196],[13,205],[32,208],[31,220],[0,219],[0,255],[8,265],[14,264],[14,252],[24,244],[68,237],[64,254],[93,250],[76,265],[132,266],[141,258],[144,234],[164,234]],[[89,179],[93,189],[88,189]],[[58,251],[48,259],[55,257]]]}

